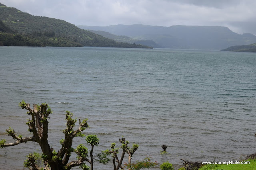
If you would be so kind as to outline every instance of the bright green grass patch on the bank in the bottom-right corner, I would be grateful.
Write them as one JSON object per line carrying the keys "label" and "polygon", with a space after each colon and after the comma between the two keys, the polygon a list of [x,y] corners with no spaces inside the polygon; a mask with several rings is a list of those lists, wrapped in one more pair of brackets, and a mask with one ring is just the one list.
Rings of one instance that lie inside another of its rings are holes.
{"label": "bright green grass patch on the bank in the bottom-right corner", "polygon": [[256,160],[250,161],[250,164],[208,164],[202,166],[199,170],[256,170]]}

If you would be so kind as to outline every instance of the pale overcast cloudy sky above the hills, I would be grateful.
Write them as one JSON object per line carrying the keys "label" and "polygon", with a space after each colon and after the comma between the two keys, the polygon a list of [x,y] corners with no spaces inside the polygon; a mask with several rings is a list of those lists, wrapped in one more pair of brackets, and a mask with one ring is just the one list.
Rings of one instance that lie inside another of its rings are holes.
{"label": "pale overcast cloudy sky above the hills", "polygon": [[256,35],[256,0],[0,0],[75,25],[219,25]]}

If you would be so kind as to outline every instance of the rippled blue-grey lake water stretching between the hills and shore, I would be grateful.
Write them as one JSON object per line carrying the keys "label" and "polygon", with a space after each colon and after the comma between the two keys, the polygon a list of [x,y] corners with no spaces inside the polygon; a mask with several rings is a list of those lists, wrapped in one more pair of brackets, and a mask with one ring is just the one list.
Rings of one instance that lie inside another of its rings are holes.
{"label": "rippled blue-grey lake water stretching between the hills and shore", "polygon": [[[0,47],[0,89],[0,139],[8,142],[9,126],[30,136],[29,115],[18,107],[23,99],[52,108],[49,142],[56,150],[69,110],[88,118],[84,134],[100,138],[95,152],[119,146],[121,136],[140,145],[134,162],[151,155],[178,167],[179,158],[226,161],[256,152],[256,53]],[[79,143],[86,145],[76,138],[73,146]],[[168,154],[160,154],[163,144]],[[0,149],[0,169],[22,169],[36,150],[30,142]]]}

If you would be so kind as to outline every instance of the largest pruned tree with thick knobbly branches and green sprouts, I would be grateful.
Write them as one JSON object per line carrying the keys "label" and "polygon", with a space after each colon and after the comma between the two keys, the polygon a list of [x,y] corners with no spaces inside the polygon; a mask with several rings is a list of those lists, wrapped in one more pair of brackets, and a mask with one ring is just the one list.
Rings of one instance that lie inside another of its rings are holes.
{"label": "largest pruned tree with thick knobbly branches and green sprouts", "polygon": [[[44,167],[40,167],[36,164],[36,159],[34,154],[29,154],[28,159],[24,162],[24,166],[30,168],[31,170],[70,170],[72,167],[81,166],[84,170],[88,169],[88,166],[84,161],[88,161],[91,164],[91,170],[93,169],[93,159],[92,152],[94,145],[98,145],[98,138],[92,137],[88,139],[92,149],[90,150],[90,158],[88,157],[88,149],[80,144],[76,149],[72,148],[72,141],[74,137],[84,136],[81,132],[84,131],[89,125],[87,124],[87,119],[82,122],[79,119],[79,127],[74,130],[76,119],[72,119],[73,114],[70,111],[66,111],[66,129],[63,130],[64,139],[60,140],[62,145],[61,149],[56,152],[50,147],[48,143],[48,119],[49,115],[52,113],[48,104],[36,105],[33,104],[33,109],[30,108],[30,104],[27,104],[22,100],[19,106],[22,109],[26,109],[27,114],[31,115],[32,119],[28,119],[26,123],[28,125],[28,131],[32,133],[31,137],[22,137],[21,135],[16,135],[15,131],[11,128],[7,129],[7,133],[13,139],[14,143],[6,143],[5,139],[0,141],[0,147],[10,147],[18,145],[20,143],[27,143],[28,141],[36,142],[40,145],[42,150],[42,158],[44,160]],[[69,162],[71,152],[75,152],[77,160]]]}

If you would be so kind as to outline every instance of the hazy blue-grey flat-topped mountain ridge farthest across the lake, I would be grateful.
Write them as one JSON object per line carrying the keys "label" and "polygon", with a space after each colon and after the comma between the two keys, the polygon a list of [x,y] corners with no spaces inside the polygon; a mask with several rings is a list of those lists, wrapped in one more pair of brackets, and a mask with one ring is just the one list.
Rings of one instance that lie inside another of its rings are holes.
{"label": "hazy blue-grey flat-topped mountain ridge farthest across the lake", "polygon": [[163,27],[134,24],[105,27],[78,25],[78,27],[125,35],[133,39],[152,40],[165,48],[220,50],[234,45],[248,45],[256,42],[256,36],[253,34],[240,35],[228,27],[221,26],[173,25]]}

